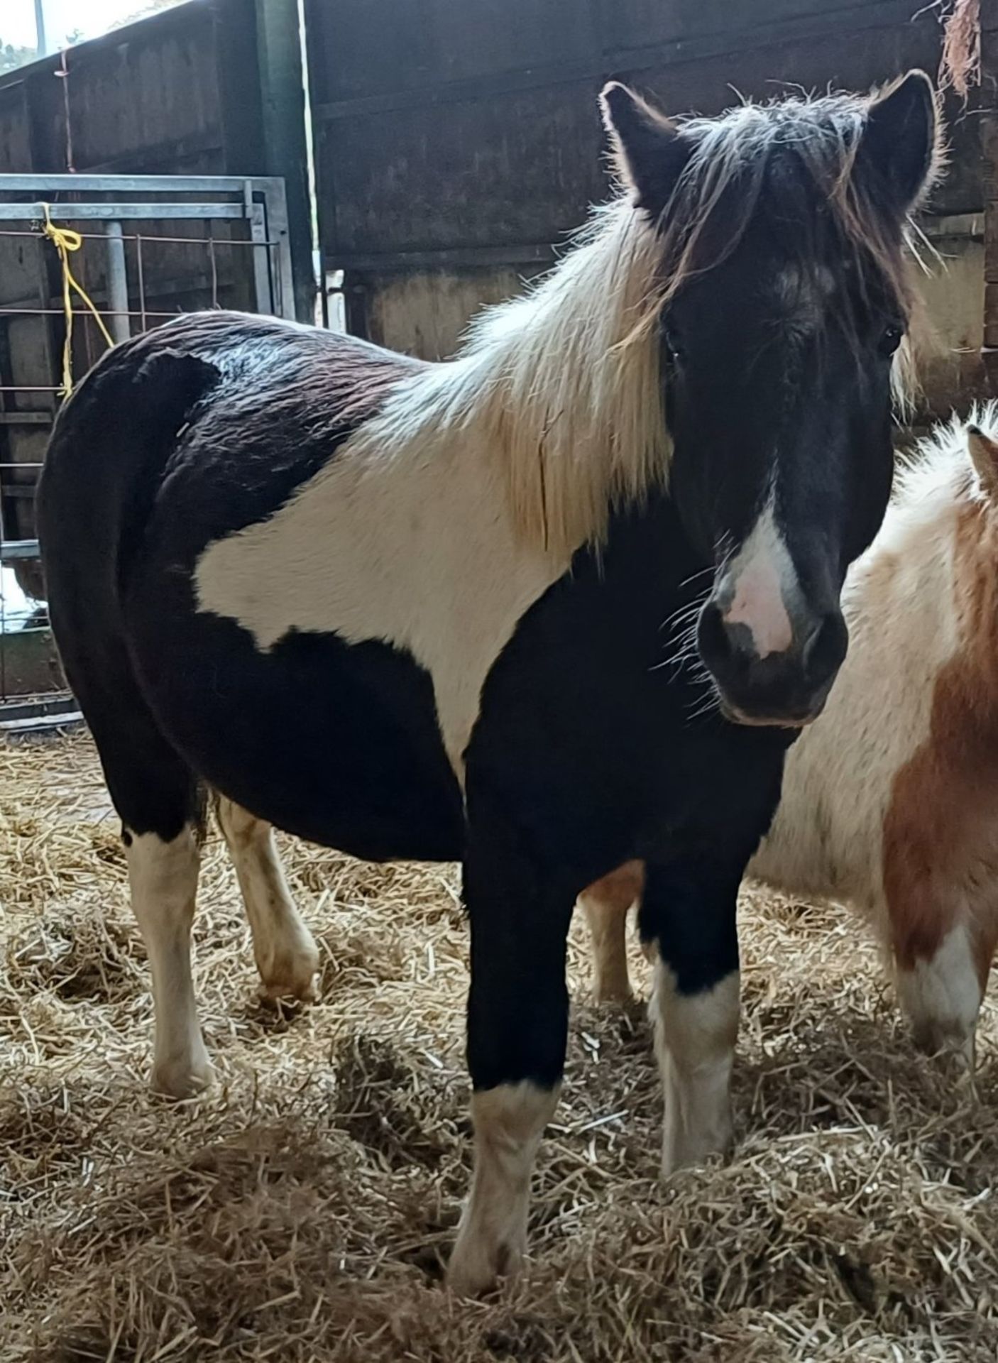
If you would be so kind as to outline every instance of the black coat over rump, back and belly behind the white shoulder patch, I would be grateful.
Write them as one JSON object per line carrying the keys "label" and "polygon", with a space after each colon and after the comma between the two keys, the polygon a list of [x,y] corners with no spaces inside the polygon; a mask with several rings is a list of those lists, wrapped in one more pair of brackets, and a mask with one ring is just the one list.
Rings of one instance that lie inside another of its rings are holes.
{"label": "black coat over rump, back and belly behind the white shoulder patch", "polygon": [[273,514],[420,368],[333,333],[196,313],[110,352],[67,403],[40,492],[53,627],[134,831],[175,837],[203,778],[357,856],[459,857],[428,675],[333,635],[263,654],[196,612],[191,581],[213,540]]}

